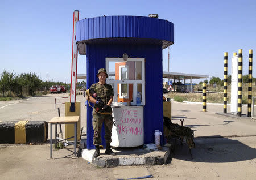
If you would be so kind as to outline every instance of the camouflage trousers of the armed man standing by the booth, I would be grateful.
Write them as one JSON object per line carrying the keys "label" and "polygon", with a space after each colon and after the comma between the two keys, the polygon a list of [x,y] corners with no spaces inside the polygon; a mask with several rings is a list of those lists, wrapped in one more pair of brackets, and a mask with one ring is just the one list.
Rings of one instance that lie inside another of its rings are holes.
{"label": "camouflage trousers of the armed man standing by the booth", "polygon": [[104,115],[100,113],[96,113],[93,110],[93,145],[100,145],[101,144],[101,128],[104,122],[104,129],[105,129],[105,141],[106,143],[111,143],[111,135],[112,135],[112,115]]}

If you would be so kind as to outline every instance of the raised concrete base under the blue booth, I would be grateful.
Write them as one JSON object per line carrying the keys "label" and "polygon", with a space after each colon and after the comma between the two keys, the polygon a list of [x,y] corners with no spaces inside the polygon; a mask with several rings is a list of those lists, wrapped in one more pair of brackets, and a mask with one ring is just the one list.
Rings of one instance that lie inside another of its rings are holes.
{"label": "raised concrete base under the blue booth", "polygon": [[145,149],[122,149],[121,151],[112,149],[116,156],[105,155],[105,149],[101,149],[101,155],[93,158],[93,150],[82,149],[81,157],[86,161],[99,167],[115,167],[125,165],[162,165],[170,164],[174,156],[173,145],[166,145],[160,151],[148,151]]}

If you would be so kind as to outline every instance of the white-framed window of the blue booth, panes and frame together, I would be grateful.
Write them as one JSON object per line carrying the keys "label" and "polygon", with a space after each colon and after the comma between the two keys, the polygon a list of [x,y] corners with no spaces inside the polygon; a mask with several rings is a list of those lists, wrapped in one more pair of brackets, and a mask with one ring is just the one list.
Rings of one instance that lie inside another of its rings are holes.
{"label": "white-framed window of the blue booth, panes and frame together", "polygon": [[106,83],[114,89],[114,102],[136,105],[137,93],[141,96],[141,105],[145,105],[144,58],[106,58],[106,71],[109,77]]}

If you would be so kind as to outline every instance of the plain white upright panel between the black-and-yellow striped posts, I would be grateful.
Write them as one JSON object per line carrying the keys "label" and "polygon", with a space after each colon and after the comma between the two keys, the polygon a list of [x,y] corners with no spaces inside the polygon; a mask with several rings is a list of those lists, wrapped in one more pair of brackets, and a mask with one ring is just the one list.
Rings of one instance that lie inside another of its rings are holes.
{"label": "plain white upright panel between the black-and-yellow striped posts", "polygon": [[231,66],[231,114],[237,115],[238,99],[238,56],[232,58]]}

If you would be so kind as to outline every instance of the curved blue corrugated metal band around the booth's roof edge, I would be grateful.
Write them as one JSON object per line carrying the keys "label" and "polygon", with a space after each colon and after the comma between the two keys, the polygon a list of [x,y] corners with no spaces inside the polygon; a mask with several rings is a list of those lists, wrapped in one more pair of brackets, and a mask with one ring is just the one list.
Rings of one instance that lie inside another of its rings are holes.
{"label": "curved blue corrugated metal band around the booth's roof edge", "polygon": [[79,20],[76,41],[96,38],[153,38],[174,42],[174,24],[143,16],[103,16]]}

